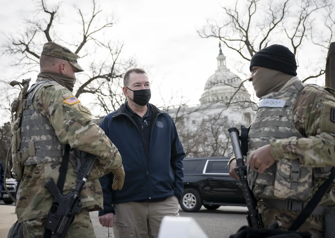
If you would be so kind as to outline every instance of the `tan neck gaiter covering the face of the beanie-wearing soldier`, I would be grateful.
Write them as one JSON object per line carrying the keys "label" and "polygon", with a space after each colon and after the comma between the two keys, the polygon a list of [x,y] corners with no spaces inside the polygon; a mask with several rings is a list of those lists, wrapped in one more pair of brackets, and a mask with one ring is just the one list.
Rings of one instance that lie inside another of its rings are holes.
{"label": "tan neck gaiter covering the face of the beanie-wearing soldier", "polygon": [[269,93],[277,92],[292,77],[294,76],[277,70],[259,68],[252,79],[252,86],[256,96],[260,98]]}

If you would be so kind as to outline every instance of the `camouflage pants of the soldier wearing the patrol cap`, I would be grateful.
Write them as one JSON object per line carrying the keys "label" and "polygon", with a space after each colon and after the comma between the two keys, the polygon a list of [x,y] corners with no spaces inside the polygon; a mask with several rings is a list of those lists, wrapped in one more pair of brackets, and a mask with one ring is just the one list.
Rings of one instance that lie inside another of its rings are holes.
{"label": "camouflage pants of the soldier wearing the patrol cap", "polygon": [[[44,224],[47,217],[31,219],[22,223],[24,238],[43,238]],[[72,224],[70,225],[65,238],[87,237],[95,238],[93,224],[89,217],[89,212],[81,210],[76,214]]]}

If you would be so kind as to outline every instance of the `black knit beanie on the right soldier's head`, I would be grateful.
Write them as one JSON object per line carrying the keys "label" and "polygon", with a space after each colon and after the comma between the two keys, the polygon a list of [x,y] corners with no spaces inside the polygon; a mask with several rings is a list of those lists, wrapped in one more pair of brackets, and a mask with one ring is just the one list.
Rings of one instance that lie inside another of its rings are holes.
{"label": "black knit beanie on the right soldier's head", "polygon": [[271,45],[256,52],[250,61],[250,72],[253,66],[278,70],[293,76],[297,75],[295,56],[282,45]]}

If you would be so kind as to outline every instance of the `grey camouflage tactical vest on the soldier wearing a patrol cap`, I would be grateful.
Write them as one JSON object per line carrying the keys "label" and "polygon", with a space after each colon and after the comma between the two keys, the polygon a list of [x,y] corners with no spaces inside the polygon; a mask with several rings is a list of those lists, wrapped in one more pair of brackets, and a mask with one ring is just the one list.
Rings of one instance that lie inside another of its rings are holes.
{"label": "grey camouflage tactical vest on the soldier wearing a patrol cap", "polygon": [[38,81],[33,84],[23,99],[22,112],[18,115],[21,119],[16,119],[11,126],[16,132],[12,133],[11,138],[12,175],[18,180],[22,178],[24,165],[57,162],[64,154],[65,145],[59,142],[47,117],[33,104],[36,92],[45,83],[59,85],[54,81]]}

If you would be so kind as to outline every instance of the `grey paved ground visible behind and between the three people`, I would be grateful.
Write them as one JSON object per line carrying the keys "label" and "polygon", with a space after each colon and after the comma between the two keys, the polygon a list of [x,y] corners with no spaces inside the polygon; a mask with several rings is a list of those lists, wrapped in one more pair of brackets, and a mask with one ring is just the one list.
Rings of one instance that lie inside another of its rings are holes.
{"label": "grey paved ground visible behind and between the three people", "polygon": [[[4,205],[0,201],[0,238],[6,238],[8,230],[16,221],[14,206]],[[208,238],[228,238],[230,234],[243,225],[247,225],[245,218],[245,207],[222,206],[215,211],[209,211],[204,207],[197,213],[185,213],[181,208],[179,214],[182,217],[193,217],[200,227],[206,232]],[[108,229],[102,227],[98,221],[98,212],[91,212],[91,220],[97,238],[107,238]],[[110,229],[110,232],[112,230]],[[112,236],[114,238],[114,236]]]}

